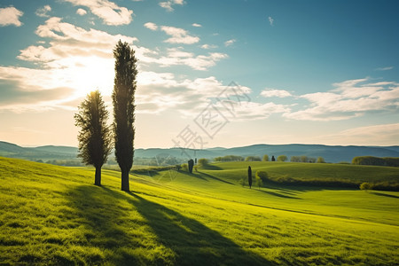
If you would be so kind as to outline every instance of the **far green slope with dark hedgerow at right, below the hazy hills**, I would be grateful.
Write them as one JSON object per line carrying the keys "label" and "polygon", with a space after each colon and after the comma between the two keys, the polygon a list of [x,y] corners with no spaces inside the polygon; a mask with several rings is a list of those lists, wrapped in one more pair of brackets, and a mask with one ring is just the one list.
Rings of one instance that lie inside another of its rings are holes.
{"label": "far green slope with dark hedgerow at right, below the hazy hills", "polygon": [[[323,187],[358,188],[364,182],[380,190],[399,190],[399,168],[331,163],[239,161],[213,165],[218,176],[237,181],[248,166],[253,173],[265,171],[270,181],[280,184],[304,184]],[[207,171],[210,173],[209,171]],[[216,173],[213,171],[213,173]]]}

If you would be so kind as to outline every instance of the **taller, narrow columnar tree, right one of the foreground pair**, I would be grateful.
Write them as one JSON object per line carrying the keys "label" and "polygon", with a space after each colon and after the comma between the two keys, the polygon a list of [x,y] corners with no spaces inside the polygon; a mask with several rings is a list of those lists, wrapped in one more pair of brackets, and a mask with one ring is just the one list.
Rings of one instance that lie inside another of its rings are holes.
{"label": "taller, narrow columnar tree, right one of the foreground pair", "polygon": [[121,190],[129,192],[129,170],[133,166],[135,128],[135,92],[137,59],[135,51],[121,40],[113,49],[113,136],[115,156],[121,168]]}

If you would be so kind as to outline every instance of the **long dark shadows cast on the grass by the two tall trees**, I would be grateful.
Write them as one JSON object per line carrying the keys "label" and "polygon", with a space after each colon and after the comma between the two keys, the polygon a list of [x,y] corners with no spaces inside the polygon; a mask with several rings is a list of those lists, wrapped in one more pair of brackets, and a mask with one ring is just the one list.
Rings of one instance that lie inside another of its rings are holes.
{"label": "long dark shadows cast on the grass by the two tall trees", "polygon": [[[141,194],[121,193],[106,187],[87,185],[75,188],[68,195],[72,207],[83,220],[86,232],[82,246],[97,246],[107,250],[109,257],[103,259],[106,262],[117,265],[165,265],[170,262],[174,265],[276,265],[258,254],[243,250],[231,239],[226,239],[203,223],[146,200]],[[127,202],[131,209],[127,209],[126,205],[119,206],[118,202],[121,201]],[[145,218],[145,222],[143,219],[127,219],[126,213],[136,210]],[[133,228],[149,226],[156,235],[157,245],[166,247],[172,254],[165,254],[165,258],[160,253],[155,255],[158,257],[148,259],[145,252],[126,252],[157,247],[143,246],[143,243],[153,240],[143,239],[151,238],[151,233],[142,233],[137,237],[129,231],[122,231],[127,228],[123,223],[129,223],[129,227]],[[99,262],[89,261],[94,264]]]}

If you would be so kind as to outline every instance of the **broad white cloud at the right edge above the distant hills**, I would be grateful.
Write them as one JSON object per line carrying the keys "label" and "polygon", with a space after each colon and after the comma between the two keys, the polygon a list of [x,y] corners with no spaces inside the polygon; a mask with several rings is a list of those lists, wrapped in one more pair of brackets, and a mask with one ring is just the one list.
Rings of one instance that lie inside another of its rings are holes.
{"label": "broad white cloud at the right edge above the distant hills", "polygon": [[305,109],[285,113],[286,118],[309,121],[338,121],[372,111],[397,112],[399,83],[369,82],[369,79],[334,83],[336,89],[302,95],[310,102]]}

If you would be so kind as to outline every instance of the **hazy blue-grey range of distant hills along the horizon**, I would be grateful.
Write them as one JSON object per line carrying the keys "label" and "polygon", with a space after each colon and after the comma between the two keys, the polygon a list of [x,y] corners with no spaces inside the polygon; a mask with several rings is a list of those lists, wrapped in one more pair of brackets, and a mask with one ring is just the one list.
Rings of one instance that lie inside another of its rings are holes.
{"label": "hazy blue-grey range of distant hills along the horizon", "polygon": [[[77,160],[78,149],[70,146],[39,146],[21,147],[19,145],[0,141],[0,156],[20,158],[26,160]],[[356,156],[399,157],[399,145],[395,146],[332,146],[332,145],[249,145],[235,148],[208,148],[203,150],[189,150],[180,148],[151,148],[136,149],[135,157],[176,157],[176,158],[207,158],[225,155],[262,156],[268,154],[291,156],[306,155],[308,157],[323,157],[327,162],[352,161]]]}

